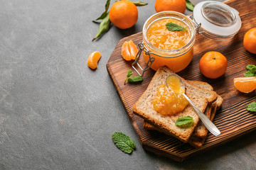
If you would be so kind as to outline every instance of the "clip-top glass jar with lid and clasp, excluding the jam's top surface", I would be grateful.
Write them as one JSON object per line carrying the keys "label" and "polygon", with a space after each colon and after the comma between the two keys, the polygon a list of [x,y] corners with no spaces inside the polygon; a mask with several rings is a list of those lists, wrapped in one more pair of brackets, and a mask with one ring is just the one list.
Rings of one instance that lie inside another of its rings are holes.
{"label": "clip-top glass jar with lid and clasp, excluding the jam's top surface", "polygon": [[[185,26],[190,39],[178,49],[163,49],[153,45],[147,33],[154,23],[170,18]],[[202,1],[194,8],[193,15],[185,16],[175,11],[163,11],[149,17],[144,23],[142,30],[143,42],[139,43],[139,52],[132,64],[135,71],[142,77],[149,68],[157,70],[161,66],[167,66],[174,72],[185,69],[193,58],[193,45],[198,33],[213,40],[229,40],[238,33],[241,20],[238,11],[218,1]],[[146,62],[144,69],[139,64],[139,57],[143,55]],[[142,74],[135,68],[138,65]]]}

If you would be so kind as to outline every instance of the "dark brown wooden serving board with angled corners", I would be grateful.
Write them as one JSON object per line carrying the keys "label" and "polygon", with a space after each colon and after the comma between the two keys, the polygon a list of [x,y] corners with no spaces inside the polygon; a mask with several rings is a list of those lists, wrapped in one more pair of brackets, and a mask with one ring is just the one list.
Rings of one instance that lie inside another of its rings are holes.
{"label": "dark brown wooden serving board with angled corners", "polygon": [[[123,60],[121,47],[126,40],[133,40],[135,44],[142,42],[142,33],[123,38],[114,48],[110,60],[107,62],[107,70],[144,149],[182,162],[188,157],[206,152],[208,149],[223,145],[230,140],[256,129],[255,113],[248,112],[245,109],[248,103],[256,101],[255,92],[242,94],[233,85],[233,79],[235,77],[242,77],[246,72],[247,64],[256,64],[256,55],[247,52],[242,44],[246,31],[255,27],[256,1],[230,0],[224,3],[237,9],[240,13],[242,27],[238,34],[232,40],[224,42],[210,40],[203,37],[203,35],[196,35],[193,60],[186,69],[177,73],[184,79],[208,82],[224,99],[223,105],[216,113],[213,121],[219,128],[221,135],[215,137],[208,133],[206,142],[199,149],[160,132],[144,130],[142,118],[132,113],[132,106],[146,90],[155,72],[152,69],[145,72],[142,84],[124,85],[127,72],[129,69],[132,69],[132,62]],[[212,50],[221,52],[228,60],[227,71],[218,79],[207,79],[201,74],[198,66],[203,54]],[[145,64],[142,58],[139,63],[144,66]],[[135,71],[133,72],[134,74],[136,73]]]}

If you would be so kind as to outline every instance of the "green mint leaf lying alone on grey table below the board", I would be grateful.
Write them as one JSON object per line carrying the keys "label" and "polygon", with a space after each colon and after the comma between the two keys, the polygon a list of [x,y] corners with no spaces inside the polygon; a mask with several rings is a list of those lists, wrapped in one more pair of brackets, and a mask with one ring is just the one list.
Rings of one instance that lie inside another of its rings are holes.
{"label": "green mint leaf lying alone on grey table below the board", "polygon": [[122,152],[130,154],[135,149],[134,141],[122,132],[113,132],[112,140]]}

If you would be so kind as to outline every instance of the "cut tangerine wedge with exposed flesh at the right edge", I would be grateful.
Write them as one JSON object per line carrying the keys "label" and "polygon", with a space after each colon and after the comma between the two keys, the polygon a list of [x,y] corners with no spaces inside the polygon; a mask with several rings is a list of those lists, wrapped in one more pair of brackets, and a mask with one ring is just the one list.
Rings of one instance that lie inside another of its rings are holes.
{"label": "cut tangerine wedge with exposed flesh at the right edge", "polygon": [[235,88],[243,93],[250,93],[256,89],[256,77],[238,77],[234,79]]}

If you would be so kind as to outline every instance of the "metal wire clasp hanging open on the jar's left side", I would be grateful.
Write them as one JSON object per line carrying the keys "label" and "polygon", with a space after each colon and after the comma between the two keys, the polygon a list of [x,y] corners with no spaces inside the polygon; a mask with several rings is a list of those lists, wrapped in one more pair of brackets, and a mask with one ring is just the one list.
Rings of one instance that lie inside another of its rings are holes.
{"label": "metal wire clasp hanging open on the jar's left side", "polygon": [[[137,72],[137,74],[139,74],[140,77],[143,77],[144,72],[150,69],[151,64],[154,62],[154,57],[151,57],[151,54],[153,55],[156,55],[156,54],[154,54],[154,52],[149,52],[149,50],[145,47],[143,42],[139,42],[138,46],[139,46],[139,52],[135,57],[135,61],[132,63],[132,68]],[[142,50],[145,52],[146,55],[149,55],[149,60],[146,62],[146,66],[144,67],[144,69],[142,69],[141,65],[139,64],[139,57],[142,55]],[[142,74],[140,74],[139,71],[134,67],[135,64],[137,64],[139,69],[142,70]]]}

